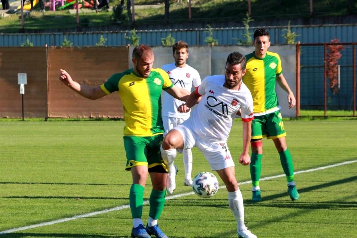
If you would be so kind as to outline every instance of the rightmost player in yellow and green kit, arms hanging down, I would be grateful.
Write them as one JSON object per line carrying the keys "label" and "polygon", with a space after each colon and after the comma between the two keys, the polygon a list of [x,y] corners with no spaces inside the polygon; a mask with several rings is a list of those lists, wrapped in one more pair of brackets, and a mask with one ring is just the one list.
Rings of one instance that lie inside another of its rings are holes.
{"label": "rightmost player in yellow and green kit, arms hanging down", "polygon": [[263,155],[262,138],[272,139],[278,153],[288,182],[288,193],[292,200],[299,198],[294,183],[294,169],[290,152],[285,141],[285,130],[279,111],[279,102],[275,92],[275,81],[288,93],[289,108],[295,106],[295,97],[287,84],[278,54],[267,51],[270,46],[270,35],[266,29],[257,29],[254,33],[255,51],[246,55],[246,74],[243,83],[253,96],[254,120],[252,122],[252,156],[250,173],[252,178],[252,200],[262,200],[259,179]]}

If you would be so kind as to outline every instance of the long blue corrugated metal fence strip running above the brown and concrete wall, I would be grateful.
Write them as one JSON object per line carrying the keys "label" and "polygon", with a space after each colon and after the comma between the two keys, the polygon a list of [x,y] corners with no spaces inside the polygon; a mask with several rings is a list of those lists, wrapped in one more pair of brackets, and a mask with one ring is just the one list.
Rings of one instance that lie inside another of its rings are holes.
{"label": "long blue corrugated metal fence strip running above the brown and concrete wall", "polygon": [[[267,26],[271,34],[272,44],[285,44],[282,36],[287,26]],[[250,29],[251,33],[257,27]],[[296,41],[301,43],[327,43],[331,39],[340,39],[340,42],[357,42],[357,24],[343,25],[311,25],[291,26],[291,31],[298,34]],[[140,43],[151,46],[160,46],[161,38],[166,38],[170,33],[176,40],[184,40],[189,45],[205,45],[208,36],[207,29],[167,29],[167,30],[141,30],[136,31],[140,36]],[[213,28],[213,38],[219,45],[235,45],[236,39],[243,39],[245,28]],[[107,39],[105,45],[126,45],[130,31],[108,32],[80,32],[80,33],[32,33],[32,34],[0,34],[0,46],[20,46],[27,38],[34,46],[60,46],[66,37],[74,46],[92,46],[98,43],[101,35]]]}

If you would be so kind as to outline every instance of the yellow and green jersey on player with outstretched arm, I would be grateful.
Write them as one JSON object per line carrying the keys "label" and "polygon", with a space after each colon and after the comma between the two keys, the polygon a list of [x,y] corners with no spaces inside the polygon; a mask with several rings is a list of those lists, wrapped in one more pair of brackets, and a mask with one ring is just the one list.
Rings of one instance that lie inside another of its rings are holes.
{"label": "yellow and green jersey on player with outstretched arm", "polygon": [[147,137],[164,133],[161,119],[161,90],[174,85],[162,69],[152,69],[148,78],[133,69],[112,75],[101,88],[118,91],[124,108],[124,136]]}

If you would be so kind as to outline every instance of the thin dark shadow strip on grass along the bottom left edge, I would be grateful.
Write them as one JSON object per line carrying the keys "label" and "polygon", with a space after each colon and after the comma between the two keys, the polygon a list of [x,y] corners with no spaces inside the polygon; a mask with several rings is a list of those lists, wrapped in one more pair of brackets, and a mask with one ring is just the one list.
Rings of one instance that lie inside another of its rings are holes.
{"label": "thin dark shadow strip on grass along the bottom left edge", "polygon": [[130,237],[128,235],[89,235],[89,234],[67,234],[67,233],[9,233],[0,235],[1,238],[21,238],[21,237],[71,237],[71,238],[121,238]]}

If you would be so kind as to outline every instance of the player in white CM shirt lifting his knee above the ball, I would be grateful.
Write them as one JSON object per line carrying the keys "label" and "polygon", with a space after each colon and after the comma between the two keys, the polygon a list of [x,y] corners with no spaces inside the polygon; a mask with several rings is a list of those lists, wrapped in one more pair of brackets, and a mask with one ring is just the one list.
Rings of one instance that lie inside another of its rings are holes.
{"label": "player in white CM shirt lifting his knee above the ball", "polygon": [[[170,165],[176,149],[197,148],[207,159],[226,185],[228,203],[237,221],[238,237],[256,238],[244,224],[242,193],[235,177],[234,162],[227,146],[234,117],[241,109],[243,121],[243,151],[239,158],[242,165],[250,164],[249,143],[253,116],[253,98],[242,77],[246,73],[246,58],[238,52],[231,53],[226,61],[225,75],[207,76],[202,84],[188,96],[178,111],[186,112],[197,103],[197,108],[181,125],[170,130],[161,144],[164,162]],[[170,173],[170,171],[169,171]]]}

